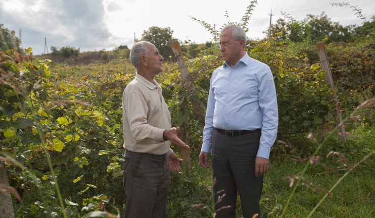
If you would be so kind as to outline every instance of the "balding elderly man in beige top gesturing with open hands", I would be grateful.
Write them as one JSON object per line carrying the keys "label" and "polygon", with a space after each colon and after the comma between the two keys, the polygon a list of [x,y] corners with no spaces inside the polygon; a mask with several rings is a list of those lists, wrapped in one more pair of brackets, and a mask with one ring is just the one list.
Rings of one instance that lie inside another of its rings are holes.
{"label": "balding elderly man in beige top gesturing with open hands", "polygon": [[154,80],[163,71],[163,57],[150,42],[135,43],[130,62],[137,72],[122,96],[124,133],[124,189],[126,218],[164,218],[169,170],[181,170],[182,161],[170,144],[190,149],[172,128],[162,88]]}

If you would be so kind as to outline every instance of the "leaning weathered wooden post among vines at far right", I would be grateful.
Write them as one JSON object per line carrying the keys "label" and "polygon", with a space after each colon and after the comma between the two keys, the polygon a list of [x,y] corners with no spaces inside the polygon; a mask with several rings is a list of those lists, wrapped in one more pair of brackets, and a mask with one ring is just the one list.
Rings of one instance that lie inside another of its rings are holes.
{"label": "leaning weathered wooden post among vines at far right", "polygon": [[[330,64],[328,63],[328,58],[327,58],[327,53],[325,51],[324,42],[318,42],[316,45],[318,47],[318,52],[319,52],[320,66],[323,70],[325,70],[324,82],[326,85],[331,86],[332,90],[335,93],[334,80],[332,78]],[[337,116],[335,123],[337,126],[337,132],[339,134],[340,140],[342,142],[346,142],[344,121],[343,121],[343,118],[341,117],[339,101],[337,100],[336,93],[335,93],[335,98],[336,98],[335,100],[336,100],[336,116]],[[323,131],[319,131],[319,134],[323,134]],[[322,138],[323,138],[322,135],[318,135],[318,139],[322,140]]]}

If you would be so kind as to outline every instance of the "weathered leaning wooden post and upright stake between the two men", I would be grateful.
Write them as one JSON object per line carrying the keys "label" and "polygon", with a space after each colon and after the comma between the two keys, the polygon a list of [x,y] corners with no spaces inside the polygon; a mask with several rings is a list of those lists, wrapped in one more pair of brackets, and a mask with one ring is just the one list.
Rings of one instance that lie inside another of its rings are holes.
{"label": "weathered leaning wooden post and upright stake between the two men", "polygon": [[[194,96],[197,95],[197,91],[195,90],[194,81],[193,81],[193,79],[192,79],[192,77],[189,73],[188,67],[186,66],[186,62],[182,57],[182,51],[181,51],[180,44],[179,44],[177,39],[170,39],[169,44],[170,44],[170,46],[173,50],[174,56],[177,59],[178,69],[179,69],[179,71],[181,73],[181,77],[184,81],[183,87],[191,93],[191,95],[189,96],[189,99],[192,102],[193,109],[194,109],[195,114],[197,115],[198,120],[200,121],[200,123],[204,127],[205,126],[205,121],[204,121],[204,117],[203,117],[204,111],[203,111],[203,108],[201,107],[201,105],[199,103],[199,100],[194,99]],[[186,111],[187,110],[185,110],[185,112]],[[186,131],[184,133],[184,142],[186,144],[188,144],[189,133],[187,132],[188,127],[186,126],[186,123],[188,122],[188,115],[186,113],[184,113],[184,114],[185,114],[185,128],[184,128],[184,130]],[[189,168],[188,174],[191,175],[192,163],[190,161],[190,150],[183,149],[182,150],[182,158],[185,161],[188,161],[188,168]]]}

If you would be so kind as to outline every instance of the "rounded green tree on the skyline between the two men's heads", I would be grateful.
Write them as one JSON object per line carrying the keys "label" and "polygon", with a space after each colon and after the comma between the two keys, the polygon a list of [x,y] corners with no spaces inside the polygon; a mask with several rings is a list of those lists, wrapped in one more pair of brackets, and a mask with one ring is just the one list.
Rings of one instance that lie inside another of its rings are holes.
{"label": "rounded green tree on the skyline between the two men's heads", "polygon": [[164,60],[175,60],[173,56],[172,48],[169,45],[168,40],[172,38],[173,30],[169,27],[161,28],[157,26],[152,26],[149,30],[143,31],[142,41],[149,41],[155,45],[163,56]]}

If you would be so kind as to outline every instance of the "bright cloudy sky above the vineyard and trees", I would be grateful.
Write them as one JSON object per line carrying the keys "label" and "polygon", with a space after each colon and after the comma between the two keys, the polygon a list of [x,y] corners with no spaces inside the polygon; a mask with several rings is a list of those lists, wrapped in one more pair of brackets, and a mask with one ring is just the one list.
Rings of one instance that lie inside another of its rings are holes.
{"label": "bright cloudy sky above the vineyard and trees", "polygon": [[[196,43],[211,41],[210,33],[190,16],[216,25],[219,29],[229,21],[240,22],[251,1],[245,0],[1,0],[0,23],[21,32],[22,46],[32,47],[35,55],[51,46],[71,46],[80,51],[112,50],[119,45],[134,44],[151,26],[170,27],[173,38]],[[332,6],[349,3],[362,10],[367,20],[375,16],[374,0],[258,0],[249,22],[247,36],[261,39],[282,12],[297,21],[306,15],[322,12],[343,26],[363,22],[353,9]],[[228,18],[225,15],[228,15]],[[21,31],[20,31],[21,30]],[[44,39],[46,38],[46,40]]]}

